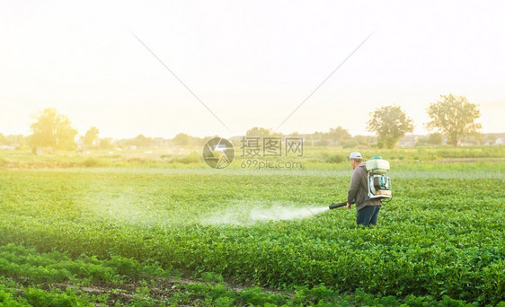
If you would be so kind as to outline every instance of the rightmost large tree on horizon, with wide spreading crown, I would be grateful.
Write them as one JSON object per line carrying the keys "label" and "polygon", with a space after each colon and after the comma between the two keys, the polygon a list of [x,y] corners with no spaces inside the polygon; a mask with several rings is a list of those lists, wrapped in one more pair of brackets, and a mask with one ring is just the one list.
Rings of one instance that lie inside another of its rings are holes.
{"label": "rightmost large tree on horizon, with wide spreading crown", "polygon": [[439,101],[431,103],[426,111],[431,118],[426,128],[443,133],[447,136],[447,143],[455,147],[461,137],[474,134],[482,127],[475,123],[481,117],[481,111],[465,96],[440,95]]}

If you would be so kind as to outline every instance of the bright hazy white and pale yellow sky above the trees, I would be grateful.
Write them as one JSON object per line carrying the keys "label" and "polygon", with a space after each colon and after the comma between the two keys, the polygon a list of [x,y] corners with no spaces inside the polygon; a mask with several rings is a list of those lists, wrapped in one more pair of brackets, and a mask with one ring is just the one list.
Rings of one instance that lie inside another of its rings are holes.
{"label": "bright hazy white and pale yellow sky above the trees", "polygon": [[[276,128],[365,134],[396,103],[425,133],[440,94],[505,132],[502,1],[3,1],[0,132],[53,107],[79,134],[235,136]],[[142,39],[231,131],[132,35]]]}

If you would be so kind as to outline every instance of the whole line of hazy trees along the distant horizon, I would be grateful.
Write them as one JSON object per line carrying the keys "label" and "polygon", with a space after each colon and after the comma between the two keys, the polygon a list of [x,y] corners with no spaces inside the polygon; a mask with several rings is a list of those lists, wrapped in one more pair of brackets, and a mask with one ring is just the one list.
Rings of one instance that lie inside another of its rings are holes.
{"label": "whole line of hazy trees along the distant horizon", "polygon": [[[478,134],[477,130],[482,127],[481,124],[475,122],[481,116],[480,110],[474,103],[467,101],[465,96],[440,95],[439,100],[431,103],[426,111],[431,120],[425,123],[425,127],[434,132],[425,140],[427,144],[440,144],[442,136],[445,136],[447,144],[456,147],[462,137],[476,135]],[[77,130],[72,126],[69,118],[58,113],[55,109],[42,110],[35,116],[35,121],[31,123],[30,127],[32,134],[28,136],[27,143],[34,152],[40,147],[66,150],[76,148]],[[369,113],[367,130],[377,136],[378,147],[393,148],[405,134],[411,133],[413,129],[412,118],[409,118],[398,105],[380,107]],[[164,142],[165,145],[167,143],[170,145],[199,145],[206,139],[181,133],[168,141],[138,135],[132,139],[113,142],[112,138],[100,138],[99,134],[100,130],[97,127],[90,127],[84,136],[80,136],[80,144],[85,148],[109,149],[114,146],[148,147],[160,142]],[[246,136],[277,135],[280,136],[271,129],[262,127],[253,127],[246,132]],[[290,134],[290,136],[297,135],[297,132]],[[19,137],[23,138],[23,136]],[[350,136],[349,131],[343,127],[331,128],[328,132],[315,132],[310,137],[313,140],[318,140],[319,145],[354,147],[370,143],[369,136]],[[0,144],[6,141],[7,138],[0,134]]]}

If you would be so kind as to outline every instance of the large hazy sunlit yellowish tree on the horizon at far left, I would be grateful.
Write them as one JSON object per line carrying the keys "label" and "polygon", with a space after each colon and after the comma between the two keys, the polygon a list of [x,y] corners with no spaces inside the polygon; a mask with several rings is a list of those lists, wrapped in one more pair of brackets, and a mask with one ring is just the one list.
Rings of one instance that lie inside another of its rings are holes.
{"label": "large hazy sunlit yellowish tree on the horizon at far left", "polygon": [[77,130],[72,127],[70,119],[48,108],[35,116],[30,125],[31,145],[34,147],[52,147],[54,149],[71,149],[75,147]]}

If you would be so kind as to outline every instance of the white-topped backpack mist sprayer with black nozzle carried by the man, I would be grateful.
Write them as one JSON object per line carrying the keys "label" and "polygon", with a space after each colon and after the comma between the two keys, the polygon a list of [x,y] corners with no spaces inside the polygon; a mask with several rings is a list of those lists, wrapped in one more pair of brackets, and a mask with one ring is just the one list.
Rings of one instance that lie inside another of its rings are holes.
{"label": "white-topped backpack mist sprayer with black nozzle carried by the man", "polygon": [[[370,199],[389,199],[393,197],[391,194],[391,179],[385,176],[389,171],[389,162],[382,157],[373,157],[365,162],[365,167],[368,171],[368,197]],[[354,201],[351,203],[354,204]],[[333,203],[330,209],[346,206],[347,202]]]}

